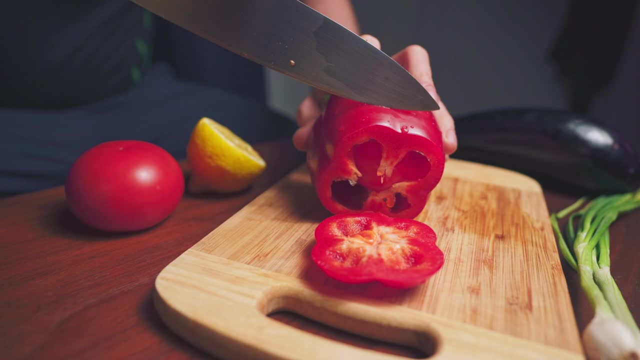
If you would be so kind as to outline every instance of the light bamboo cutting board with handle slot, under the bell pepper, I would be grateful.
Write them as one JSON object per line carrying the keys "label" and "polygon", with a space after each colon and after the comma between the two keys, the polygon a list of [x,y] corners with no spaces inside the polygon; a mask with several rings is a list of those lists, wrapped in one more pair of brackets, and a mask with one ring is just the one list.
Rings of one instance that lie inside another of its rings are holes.
{"label": "light bamboo cutting board with handle slot, under the bell pepper", "polygon": [[311,261],[330,213],[300,167],[166,266],[156,307],[173,331],[224,358],[403,358],[266,316],[286,309],[437,359],[582,359],[548,215],[531,178],[447,161],[417,217],[438,234],[442,269],[410,290],[344,284]]}

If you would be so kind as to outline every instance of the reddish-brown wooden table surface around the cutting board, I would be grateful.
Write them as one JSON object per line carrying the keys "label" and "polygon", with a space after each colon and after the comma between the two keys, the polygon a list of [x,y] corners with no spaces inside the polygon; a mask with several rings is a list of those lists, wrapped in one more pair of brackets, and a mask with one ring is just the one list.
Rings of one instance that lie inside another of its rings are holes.
{"label": "reddish-brown wooden table surface around the cutting board", "polygon": [[[268,168],[250,190],[188,195],[162,224],[104,234],[80,224],[63,188],[0,200],[2,359],[210,359],[170,332],[152,306],[156,275],[245,204],[300,165],[290,140],[255,147]],[[575,198],[545,192],[550,211]],[[612,226],[612,273],[640,319],[640,212]],[[564,266],[580,332],[592,316],[577,276]],[[360,347],[416,357],[396,347],[328,329],[298,316],[276,320]]]}

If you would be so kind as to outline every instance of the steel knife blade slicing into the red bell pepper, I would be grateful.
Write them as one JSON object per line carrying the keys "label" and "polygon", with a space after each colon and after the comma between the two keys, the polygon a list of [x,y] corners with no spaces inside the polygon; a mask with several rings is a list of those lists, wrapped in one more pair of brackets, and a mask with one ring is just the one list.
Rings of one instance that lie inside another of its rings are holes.
{"label": "steel knife blade slicing into the red bell pepper", "polygon": [[406,110],[437,102],[387,54],[298,0],[132,0],[159,17],[330,94]]}

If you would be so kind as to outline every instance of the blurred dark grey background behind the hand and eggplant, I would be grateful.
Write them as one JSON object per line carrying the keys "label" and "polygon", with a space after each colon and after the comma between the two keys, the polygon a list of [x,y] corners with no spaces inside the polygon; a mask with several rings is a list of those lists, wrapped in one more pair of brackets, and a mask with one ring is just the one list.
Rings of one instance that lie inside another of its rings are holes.
{"label": "blurred dark grey background behind the hand and eggplant", "polygon": [[[640,149],[638,1],[353,0],[360,26],[394,54],[428,51],[454,117],[532,106],[589,115]],[[270,106],[293,116],[307,87],[270,70]]]}

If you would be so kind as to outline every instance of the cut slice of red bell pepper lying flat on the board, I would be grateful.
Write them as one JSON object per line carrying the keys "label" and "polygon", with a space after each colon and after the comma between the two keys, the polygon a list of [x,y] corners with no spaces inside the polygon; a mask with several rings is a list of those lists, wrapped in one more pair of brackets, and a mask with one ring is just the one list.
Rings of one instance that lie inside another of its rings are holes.
{"label": "cut slice of red bell pepper lying flat on the board", "polygon": [[335,215],[321,222],[311,257],[333,279],[377,280],[393,288],[421,284],[444,262],[431,227],[371,211]]}

